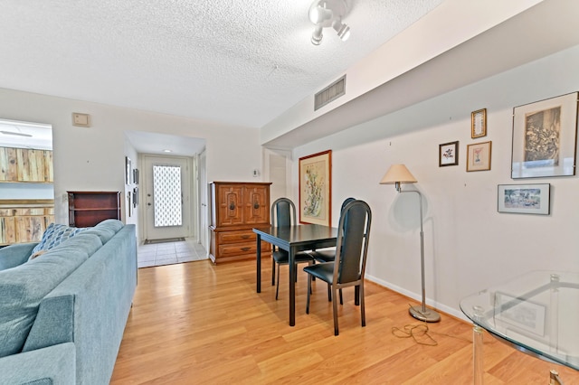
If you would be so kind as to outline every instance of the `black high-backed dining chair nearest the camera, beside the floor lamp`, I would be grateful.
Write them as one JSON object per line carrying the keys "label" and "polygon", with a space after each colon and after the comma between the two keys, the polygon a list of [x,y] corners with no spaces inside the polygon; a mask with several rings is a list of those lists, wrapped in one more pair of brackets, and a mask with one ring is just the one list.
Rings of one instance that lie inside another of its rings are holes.
{"label": "black high-backed dining chair nearest the camera, beside the floor lamp", "polygon": [[371,222],[372,211],[366,202],[353,201],[347,203],[344,210],[340,213],[340,221],[337,227],[335,261],[309,265],[304,268],[304,271],[308,273],[306,313],[309,314],[312,277],[327,282],[332,290],[335,335],[338,335],[337,290],[345,287],[355,286],[356,305],[359,301],[362,326],[365,326],[364,275]]}

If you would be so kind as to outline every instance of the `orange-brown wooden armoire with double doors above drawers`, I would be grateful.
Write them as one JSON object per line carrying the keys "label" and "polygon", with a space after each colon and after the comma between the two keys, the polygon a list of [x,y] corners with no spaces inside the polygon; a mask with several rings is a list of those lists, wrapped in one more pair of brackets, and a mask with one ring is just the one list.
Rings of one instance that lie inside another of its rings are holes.
{"label": "orange-brown wooden armoire with double doors above drawers", "polygon": [[[253,228],[270,226],[271,183],[210,183],[211,244],[215,264],[256,258]],[[261,242],[261,255],[271,255],[271,244]]]}

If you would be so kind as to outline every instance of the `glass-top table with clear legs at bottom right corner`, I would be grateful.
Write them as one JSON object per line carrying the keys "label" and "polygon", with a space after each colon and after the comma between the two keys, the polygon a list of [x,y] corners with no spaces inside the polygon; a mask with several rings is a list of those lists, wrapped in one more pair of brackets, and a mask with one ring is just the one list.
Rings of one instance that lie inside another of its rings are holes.
{"label": "glass-top table with clear legs at bottom right corner", "polygon": [[[579,273],[532,271],[462,299],[460,310],[475,333],[480,327],[521,352],[579,371]],[[475,335],[475,372],[478,342]]]}

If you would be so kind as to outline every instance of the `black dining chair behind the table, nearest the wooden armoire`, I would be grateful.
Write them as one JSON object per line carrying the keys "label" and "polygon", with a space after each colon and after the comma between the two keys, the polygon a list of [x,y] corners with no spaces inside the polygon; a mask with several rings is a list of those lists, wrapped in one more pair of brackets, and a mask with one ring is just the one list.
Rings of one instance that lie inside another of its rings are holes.
{"label": "black dining chair behind the table, nearest the wooden armoire", "polygon": [[[276,227],[292,226],[296,221],[296,205],[288,198],[280,198],[271,204],[271,223]],[[315,263],[307,252],[299,251],[295,255],[296,264]],[[275,299],[278,299],[280,292],[280,266],[289,265],[289,253],[286,250],[277,249],[273,246],[271,250],[271,286],[276,284],[275,270],[277,266],[277,286],[275,288]],[[296,277],[297,279],[297,277]]]}

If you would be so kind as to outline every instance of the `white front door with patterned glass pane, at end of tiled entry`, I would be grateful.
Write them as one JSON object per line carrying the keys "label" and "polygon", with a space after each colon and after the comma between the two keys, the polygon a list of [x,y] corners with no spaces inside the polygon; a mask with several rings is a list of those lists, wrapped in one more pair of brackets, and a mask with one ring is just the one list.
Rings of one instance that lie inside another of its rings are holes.
{"label": "white front door with patterned glass pane, at end of tiled entry", "polygon": [[185,157],[144,155],[145,236],[191,236],[191,167]]}

